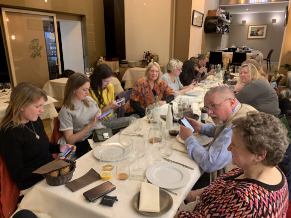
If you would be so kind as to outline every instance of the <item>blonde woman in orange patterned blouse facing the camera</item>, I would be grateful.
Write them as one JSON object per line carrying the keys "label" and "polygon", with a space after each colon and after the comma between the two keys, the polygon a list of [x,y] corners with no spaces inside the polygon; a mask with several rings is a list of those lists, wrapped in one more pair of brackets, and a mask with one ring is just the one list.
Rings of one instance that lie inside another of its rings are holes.
{"label": "blonde woman in orange patterned blouse facing the camera", "polygon": [[147,65],[145,76],[139,79],[132,91],[130,100],[125,105],[125,115],[146,114],[146,107],[154,104],[154,96],[158,96],[159,106],[174,100],[174,92],[168,84],[161,79],[158,63],[150,62]]}

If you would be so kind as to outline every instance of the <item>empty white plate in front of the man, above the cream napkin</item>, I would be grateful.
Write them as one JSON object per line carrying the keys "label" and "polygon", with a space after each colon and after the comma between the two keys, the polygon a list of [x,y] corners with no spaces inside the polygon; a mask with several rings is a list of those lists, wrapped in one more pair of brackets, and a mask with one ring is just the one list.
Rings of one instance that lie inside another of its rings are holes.
{"label": "empty white plate in front of the man, above the cream napkin", "polygon": [[178,164],[160,162],[147,168],[146,178],[160,188],[177,189],[189,182],[190,174],[185,167]]}

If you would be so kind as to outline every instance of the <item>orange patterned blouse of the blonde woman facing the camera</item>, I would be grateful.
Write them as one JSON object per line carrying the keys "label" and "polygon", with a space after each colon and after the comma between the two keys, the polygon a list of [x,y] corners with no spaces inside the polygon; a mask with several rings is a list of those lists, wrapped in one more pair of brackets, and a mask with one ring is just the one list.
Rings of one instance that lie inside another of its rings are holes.
{"label": "orange patterned blouse of the blonde woman facing the camera", "polygon": [[[169,88],[168,84],[161,80],[159,84],[154,83],[153,87],[156,95],[158,96],[158,101],[161,101],[162,97],[167,97],[169,95],[175,95],[173,90]],[[141,78],[134,85],[132,95],[130,100],[140,103],[142,108],[146,109],[148,105],[154,104],[154,96],[150,90],[150,85],[147,80]],[[130,104],[130,100],[125,105],[125,112],[132,112],[134,108]]]}

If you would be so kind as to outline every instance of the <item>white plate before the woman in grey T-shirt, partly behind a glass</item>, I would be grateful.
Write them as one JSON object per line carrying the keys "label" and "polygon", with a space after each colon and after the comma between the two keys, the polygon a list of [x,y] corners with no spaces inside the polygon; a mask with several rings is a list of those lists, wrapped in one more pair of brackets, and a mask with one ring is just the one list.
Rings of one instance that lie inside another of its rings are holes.
{"label": "white plate before the woman in grey T-shirt, partly behind a glass", "polygon": [[127,156],[130,153],[130,149],[124,149],[119,143],[106,143],[96,147],[93,153],[94,157],[100,160],[100,151],[105,150],[110,150],[112,152],[112,161],[121,160],[125,155]]}

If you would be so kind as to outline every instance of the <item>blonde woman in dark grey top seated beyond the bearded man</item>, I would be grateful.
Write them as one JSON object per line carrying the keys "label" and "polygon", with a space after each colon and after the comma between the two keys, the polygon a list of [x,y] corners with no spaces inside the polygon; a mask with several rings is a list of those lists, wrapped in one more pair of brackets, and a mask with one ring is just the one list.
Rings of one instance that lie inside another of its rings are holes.
{"label": "blonde woman in dark grey top seated beyond the bearded man", "polygon": [[281,113],[276,91],[269,82],[258,72],[253,64],[241,67],[239,83],[244,87],[236,95],[242,104],[248,104],[255,109],[278,116]]}

